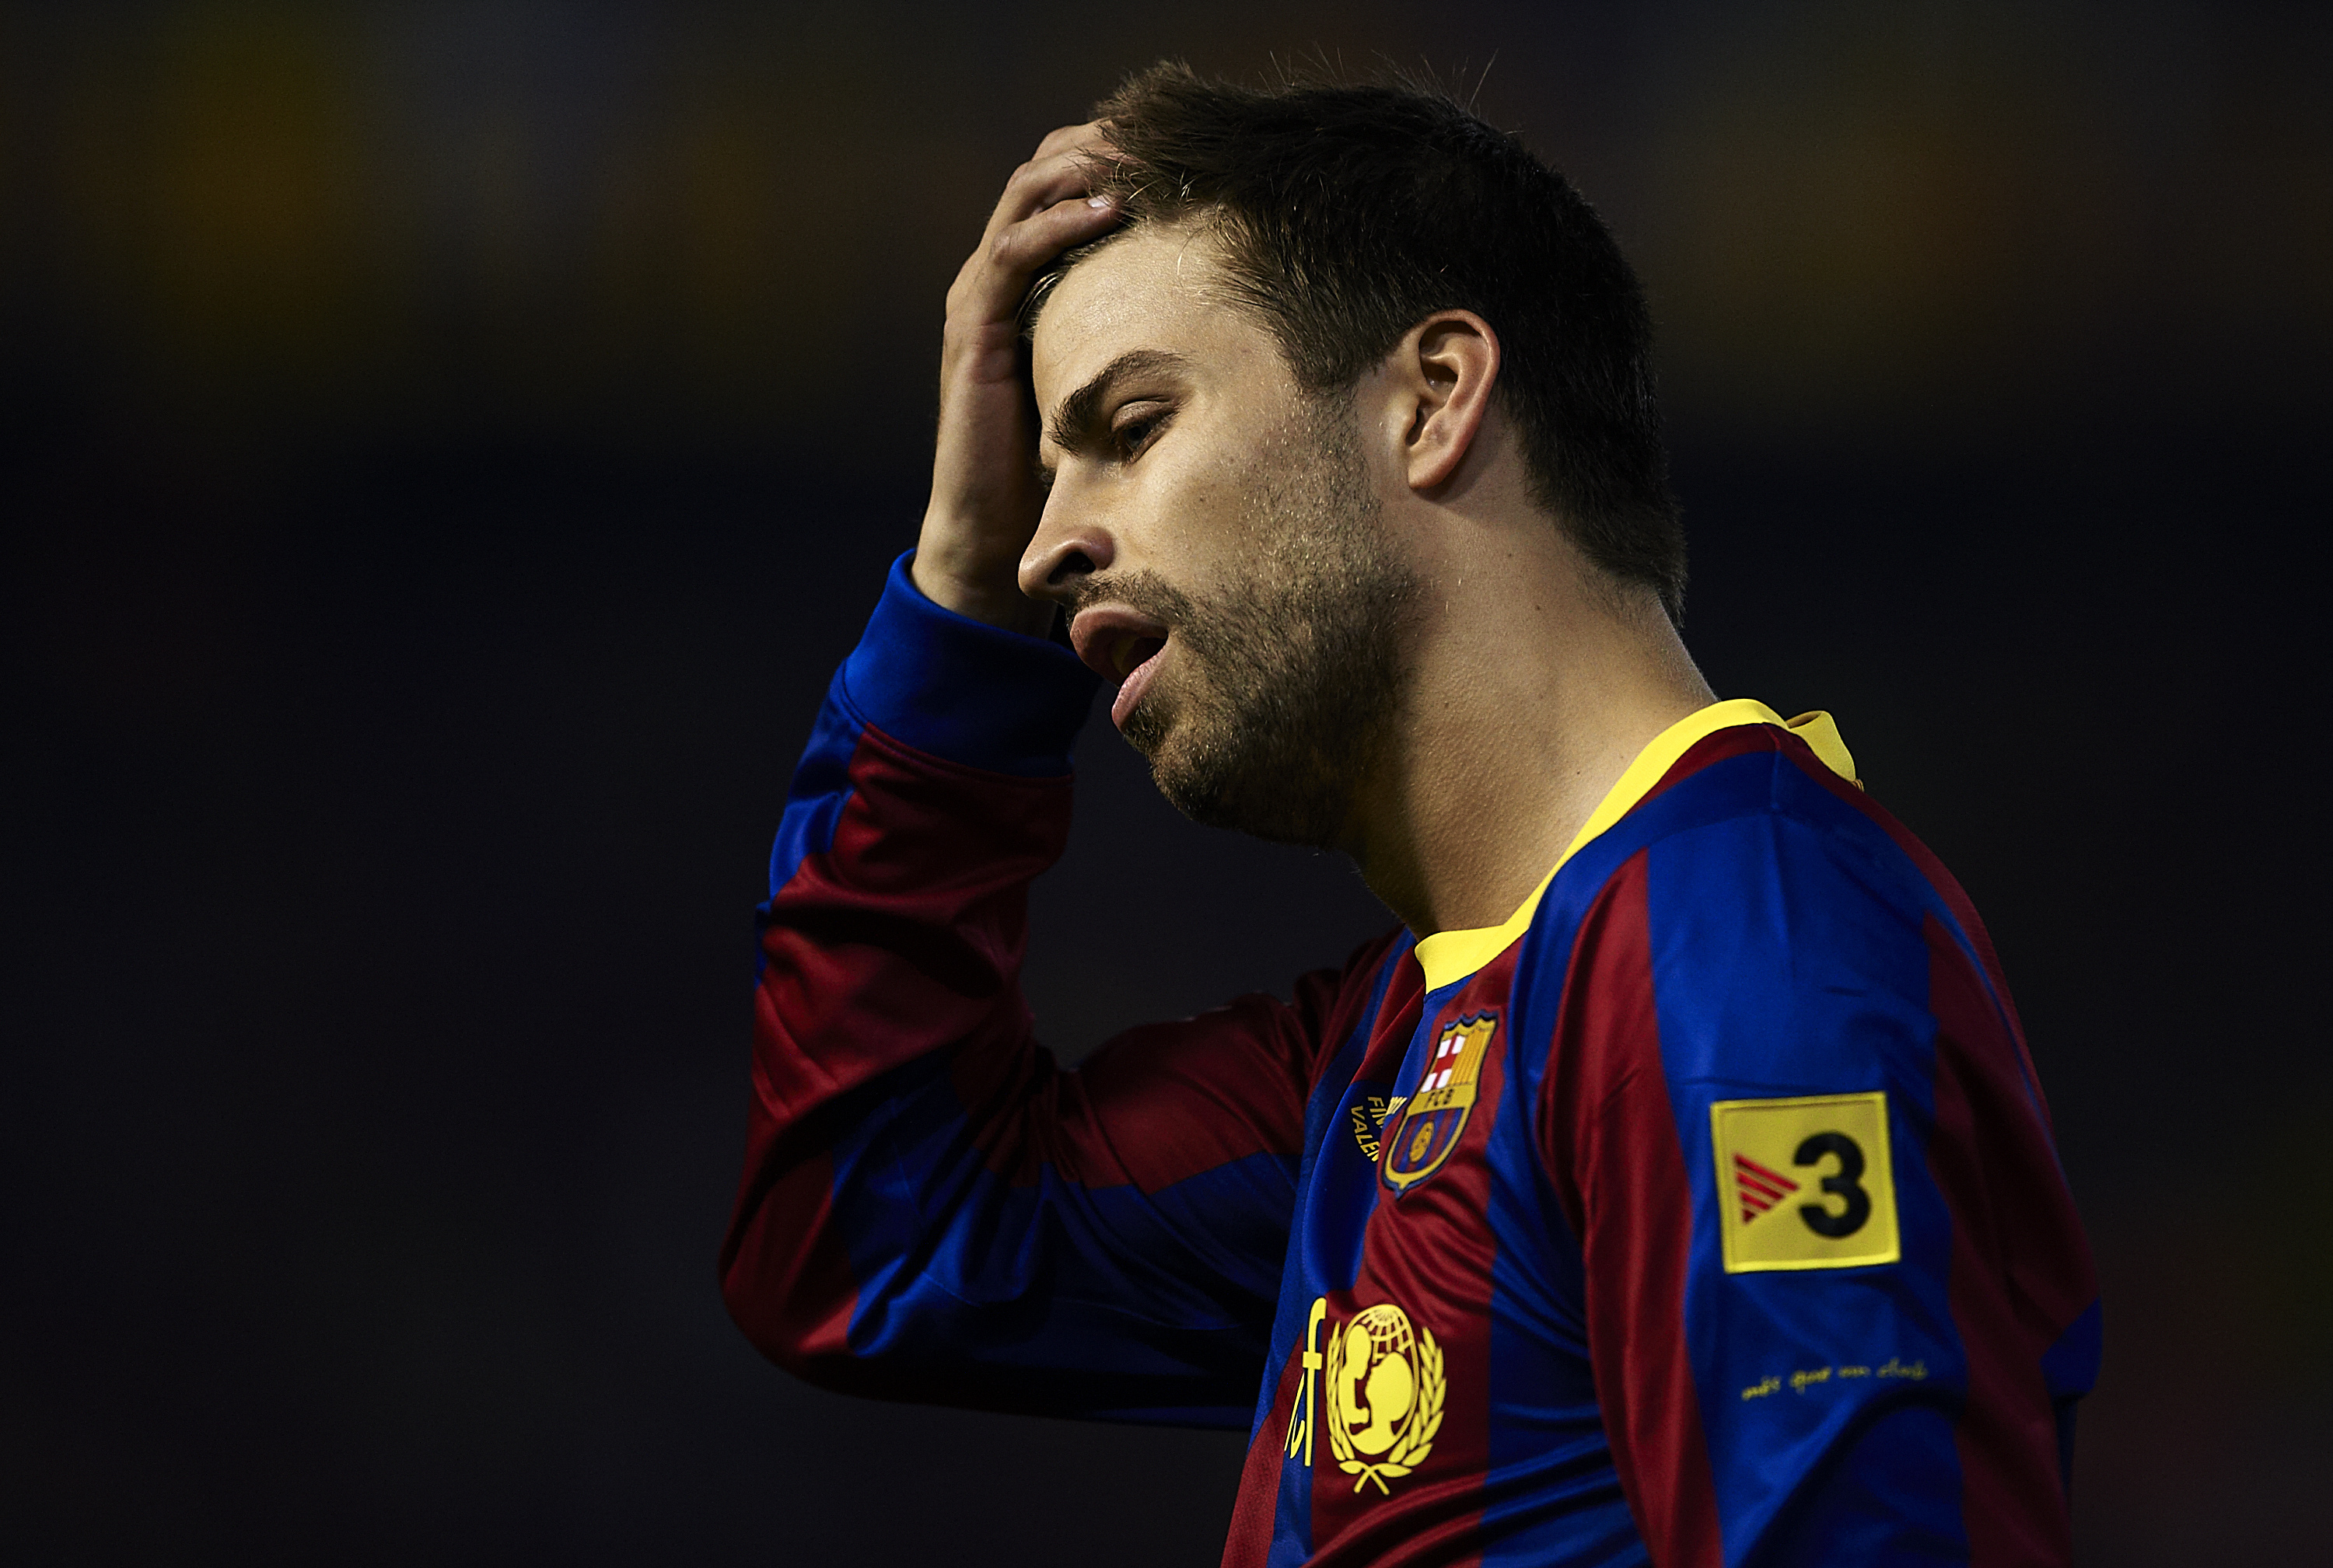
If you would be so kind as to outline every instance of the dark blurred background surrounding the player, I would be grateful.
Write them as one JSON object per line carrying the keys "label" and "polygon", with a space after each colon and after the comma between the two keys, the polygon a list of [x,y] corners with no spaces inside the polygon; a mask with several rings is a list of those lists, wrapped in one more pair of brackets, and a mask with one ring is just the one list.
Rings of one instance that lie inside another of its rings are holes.
{"label": "dark blurred background surrounding the player", "polygon": [[[2314,5],[0,12],[0,1554],[1213,1563],[1241,1437],[728,1325],[751,905],[912,541],[940,296],[1162,54],[1430,63],[1663,331],[1722,695],[1985,910],[2107,1293],[2088,1563],[2333,1475]],[[1064,1057],[1379,929],[1106,723]],[[2312,1479],[2314,1477],[2314,1479]]]}

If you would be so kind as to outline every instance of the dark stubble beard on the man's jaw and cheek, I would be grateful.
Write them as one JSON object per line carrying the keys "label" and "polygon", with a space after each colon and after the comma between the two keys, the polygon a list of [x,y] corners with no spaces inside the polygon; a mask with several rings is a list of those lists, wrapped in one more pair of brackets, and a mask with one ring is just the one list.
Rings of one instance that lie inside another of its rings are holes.
{"label": "dark stubble beard on the man's jaw and cheek", "polygon": [[1390,751],[1421,593],[1386,539],[1348,406],[1316,408],[1309,436],[1241,506],[1255,555],[1234,588],[1201,604],[1141,572],[1092,590],[1173,628],[1171,679],[1125,723],[1160,793],[1211,828],[1330,849]]}

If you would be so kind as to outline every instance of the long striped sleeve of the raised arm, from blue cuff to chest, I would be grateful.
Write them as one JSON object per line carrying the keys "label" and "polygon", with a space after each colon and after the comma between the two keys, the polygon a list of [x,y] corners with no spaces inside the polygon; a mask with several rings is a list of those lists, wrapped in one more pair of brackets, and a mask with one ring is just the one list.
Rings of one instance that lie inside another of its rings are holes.
{"label": "long striped sleeve of the raised arm, from blue cuff to chest", "polygon": [[1027,887],[1090,700],[1064,649],[894,567],[772,856],[723,1293],[819,1384],[1246,1426],[1339,980],[1052,1064]]}

